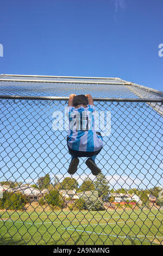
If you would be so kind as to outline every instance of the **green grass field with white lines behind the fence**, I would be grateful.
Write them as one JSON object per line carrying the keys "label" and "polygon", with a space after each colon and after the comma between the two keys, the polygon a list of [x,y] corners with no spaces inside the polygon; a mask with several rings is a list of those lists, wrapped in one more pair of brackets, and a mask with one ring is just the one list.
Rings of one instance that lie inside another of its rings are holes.
{"label": "green grass field with white lines behind the fence", "polygon": [[161,245],[163,211],[0,212],[0,245]]}

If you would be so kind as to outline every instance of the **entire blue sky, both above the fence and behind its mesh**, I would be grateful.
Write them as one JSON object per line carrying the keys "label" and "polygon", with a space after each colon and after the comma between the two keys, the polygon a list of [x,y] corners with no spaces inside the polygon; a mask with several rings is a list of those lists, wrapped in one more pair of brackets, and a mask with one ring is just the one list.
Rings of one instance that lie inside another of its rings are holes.
{"label": "entire blue sky, both above the fence and behind its mesh", "polygon": [[[158,46],[163,44],[162,9],[162,0],[3,1],[0,6],[0,44],[3,45],[0,74],[120,77],[163,91],[163,57],[159,57],[158,54]],[[31,111],[35,109],[34,105],[32,106],[33,108],[28,106],[29,109],[26,106],[26,114],[30,122],[33,120]],[[41,118],[42,107],[39,103],[38,106]],[[38,106],[35,106],[36,109]],[[57,133],[52,130],[47,131],[48,128],[52,129],[52,113],[48,115],[48,118],[51,117],[48,120],[48,125],[51,127],[46,126],[45,121],[41,121],[40,124],[45,126],[43,129],[38,126],[36,130],[35,125],[36,127],[39,125],[37,115],[35,116],[36,124],[30,126],[31,123],[28,124],[28,120],[24,119],[22,106],[18,107],[17,102],[17,108],[15,105],[12,107],[13,113],[10,113],[6,102],[4,106],[1,105],[0,120],[5,120],[1,123],[1,130],[4,129],[3,126],[8,129],[8,132],[5,129],[2,130],[4,141],[0,148],[3,152],[1,167],[5,178],[36,182],[38,175],[45,175],[51,170],[52,178],[56,172],[60,179],[63,179],[65,175],[68,176],[67,160],[70,161],[70,155],[67,148],[66,155],[63,155],[67,133],[65,131],[63,134],[59,133],[61,140],[57,141]],[[123,129],[123,123],[119,124],[122,130],[121,136],[118,135],[118,113],[115,112],[115,118],[114,109],[111,110],[112,135],[109,140],[105,138],[103,158],[103,161],[105,159],[107,162],[107,157],[112,155],[112,159],[109,159],[104,169],[104,174],[108,175],[110,184],[118,187],[123,186],[124,183],[128,187],[130,185],[153,187],[162,184],[160,144],[155,141],[157,138],[160,139],[161,131],[157,129],[161,127],[161,123],[154,126],[160,118],[158,113],[154,115],[153,111],[147,112],[151,114],[151,119],[148,120],[151,126],[148,126],[149,123],[144,124],[147,120],[144,114],[141,115],[141,121],[138,117],[137,120],[141,122],[140,130],[137,130],[135,137],[130,138],[132,133]],[[134,119],[130,120],[135,121],[136,124],[135,118],[134,115]],[[10,125],[14,127],[14,130]],[[136,126],[133,125],[133,133],[136,129],[134,127]],[[144,131],[141,130],[142,127]],[[125,131],[128,133],[127,136]],[[139,136],[139,132],[142,135],[142,141],[141,143],[138,141],[140,149],[137,151],[136,135]],[[152,137],[149,136],[149,132]],[[155,138],[155,134],[159,137]],[[123,146],[125,136],[128,140],[127,146]],[[39,141],[40,138],[42,140]],[[144,138],[146,138],[147,145],[143,142]],[[12,142],[13,139],[15,139],[14,142]],[[130,151],[130,153],[124,153],[128,156],[125,160],[123,154],[120,154],[118,139],[121,141],[121,147],[123,146],[121,149]],[[18,147],[14,143],[17,143]],[[58,151],[55,143],[58,143]],[[108,145],[110,151],[108,151]],[[153,149],[154,146],[156,152]],[[35,147],[40,155],[37,155]],[[106,154],[106,152],[109,153]],[[54,158],[55,154],[57,154],[57,160]],[[27,158],[28,161],[26,161]],[[51,161],[53,158],[54,162]],[[102,156],[97,158],[100,165]],[[84,164],[82,162],[82,170],[79,168],[77,175],[74,176],[80,183],[84,175],[90,175]],[[83,170],[86,170],[86,173]],[[91,175],[90,178],[95,179]]]}

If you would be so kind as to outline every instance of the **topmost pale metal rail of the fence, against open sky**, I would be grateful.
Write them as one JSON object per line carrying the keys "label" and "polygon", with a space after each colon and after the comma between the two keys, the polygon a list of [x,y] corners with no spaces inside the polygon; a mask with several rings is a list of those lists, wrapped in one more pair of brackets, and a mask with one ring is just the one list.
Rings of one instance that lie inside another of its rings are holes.
{"label": "topmost pale metal rail of the fence, against open sky", "polygon": [[120,79],[117,77],[92,77],[92,76],[39,76],[39,75],[11,75],[11,74],[1,74],[0,76],[17,76],[17,77],[55,77],[55,78],[83,78],[83,79]]}

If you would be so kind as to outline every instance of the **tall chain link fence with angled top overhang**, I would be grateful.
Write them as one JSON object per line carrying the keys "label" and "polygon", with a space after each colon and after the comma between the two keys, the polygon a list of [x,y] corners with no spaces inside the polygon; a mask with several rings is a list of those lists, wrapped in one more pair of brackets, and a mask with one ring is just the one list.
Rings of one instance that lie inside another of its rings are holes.
{"label": "tall chain link fence with angled top overhang", "polygon": [[[162,245],[162,96],[118,78],[10,78],[1,76],[0,89],[1,245]],[[97,176],[86,157],[67,173],[73,92],[95,101]]]}

